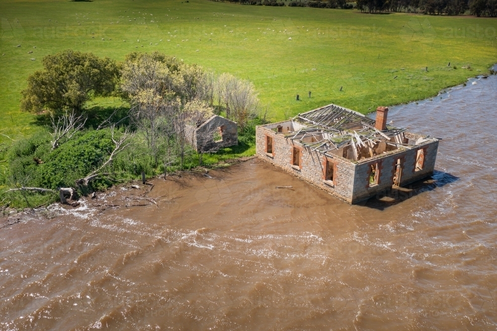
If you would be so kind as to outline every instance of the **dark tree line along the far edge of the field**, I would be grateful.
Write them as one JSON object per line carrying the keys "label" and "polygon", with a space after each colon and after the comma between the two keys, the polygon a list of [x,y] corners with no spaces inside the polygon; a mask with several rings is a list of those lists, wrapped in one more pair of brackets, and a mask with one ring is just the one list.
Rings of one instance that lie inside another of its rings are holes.
{"label": "dark tree line along the far edge of the field", "polygon": [[[212,0],[219,1],[219,0]],[[460,15],[469,13],[497,17],[497,0],[221,0],[248,5],[314,7],[314,8],[356,8],[365,13],[414,12],[427,15]]]}

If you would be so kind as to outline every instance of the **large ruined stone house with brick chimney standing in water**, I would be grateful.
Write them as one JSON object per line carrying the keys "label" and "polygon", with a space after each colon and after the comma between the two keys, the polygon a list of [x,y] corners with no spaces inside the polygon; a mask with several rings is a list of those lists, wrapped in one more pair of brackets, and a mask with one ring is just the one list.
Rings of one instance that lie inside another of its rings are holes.
{"label": "large ruined stone house with brick chimney standing in water", "polygon": [[357,203],[394,185],[433,173],[438,139],[387,125],[334,104],[256,127],[256,155],[347,201]]}

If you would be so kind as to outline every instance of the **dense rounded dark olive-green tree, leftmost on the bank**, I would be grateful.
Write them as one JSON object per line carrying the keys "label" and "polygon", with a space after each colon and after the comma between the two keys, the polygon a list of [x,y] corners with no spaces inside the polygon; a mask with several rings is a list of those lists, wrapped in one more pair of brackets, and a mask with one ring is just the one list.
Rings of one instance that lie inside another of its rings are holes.
{"label": "dense rounded dark olive-green tree, leftmost on the bank", "polygon": [[21,109],[25,111],[81,113],[84,102],[93,96],[110,95],[117,82],[115,61],[91,53],[66,50],[47,55],[42,63],[44,69],[30,75],[21,92]]}

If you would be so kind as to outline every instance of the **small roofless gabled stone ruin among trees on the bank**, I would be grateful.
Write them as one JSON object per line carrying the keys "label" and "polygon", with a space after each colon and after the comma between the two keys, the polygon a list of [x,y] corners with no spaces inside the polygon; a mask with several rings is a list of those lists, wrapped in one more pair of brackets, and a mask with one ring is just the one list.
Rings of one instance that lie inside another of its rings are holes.
{"label": "small roofless gabled stone ruin among trees on the bank", "polygon": [[213,115],[197,126],[186,126],[193,148],[198,152],[215,151],[218,148],[238,145],[237,122]]}

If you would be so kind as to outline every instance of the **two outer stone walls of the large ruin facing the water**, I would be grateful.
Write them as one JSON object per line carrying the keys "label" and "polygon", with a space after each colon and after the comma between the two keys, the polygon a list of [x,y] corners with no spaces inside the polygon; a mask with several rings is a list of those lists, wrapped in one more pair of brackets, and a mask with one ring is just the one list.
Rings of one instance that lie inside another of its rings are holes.
{"label": "two outer stone walls of the large ruin facing the water", "polygon": [[[272,153],[266,153],[266,137],[272,138]],[[292,166],[293,147],[301,149],[300,166]],[[417,151],[423,149],[424,165],[421,170],[414,171]],[[311,152],[297,142],[285,138],[268,128],[257,126],[255,130],[256,155],[345,201],[356,203],[383,192],[393,185],[397,160],[401,160],[401,186],[424,178],[433,173],[438,140],[432,139],[413,149],[399,149],[374,158],[352,162],[340,156],[325,157],[321,153]],[[333,183],[326,182],[326,162],[334,164]],[[379,177],[377,184],[369,184],[370,165],[378,164]]]}

